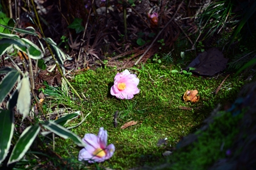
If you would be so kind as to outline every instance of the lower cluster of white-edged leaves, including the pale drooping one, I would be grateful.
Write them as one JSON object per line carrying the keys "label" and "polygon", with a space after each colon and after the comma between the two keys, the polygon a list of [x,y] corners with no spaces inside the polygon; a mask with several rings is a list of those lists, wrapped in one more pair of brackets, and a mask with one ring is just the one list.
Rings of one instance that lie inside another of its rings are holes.
{"label": "lower cluster of white-edged leaves, including the pale drooping one", "polygon": [[[0,102],[3,102],[6,96],[8,96],[10,90],[13,89],[13,86],[18,81],[17,89],[12,93],[8,103],[6,104],[7,110],[0,110],[1,120],[0,120],[0,163],[6,159],[7,154],[10,149],[10,144],[13,137],[14,131],[14,112],[13,108],[17,105],[19,113],[23,115],[23,119],[26,118],[29,114],[30,108],[30,83],[28,78],[28,73],[23,75],[23,78],[20,80],[20,73],[11,67],[3,67],[0,69],[1,74],[6,74],[3,80],[0,83]],[[26,100],[24,100],[26,99]],[[33,118],[33,117],[32,117]],[[30,125],[25,129],[24,132],[19,137],[19,140],[15,144],[13,151],[8,159],[7,166],[14,162],[19,161],[25,153],[28,151],[29,147],[35,140],[36,136],[40,132],[42,127],[49,129],[50,131],[58,134],[62,138],[71,138],[77,145],[84,146],[81,139],[76,136],[76,134],[68,131],[61,126],[64,118],[59,122],[52,122],[51,120],[45,122],[35,122],[33,125]],[[41,125],[41,126],[40,126]]]}

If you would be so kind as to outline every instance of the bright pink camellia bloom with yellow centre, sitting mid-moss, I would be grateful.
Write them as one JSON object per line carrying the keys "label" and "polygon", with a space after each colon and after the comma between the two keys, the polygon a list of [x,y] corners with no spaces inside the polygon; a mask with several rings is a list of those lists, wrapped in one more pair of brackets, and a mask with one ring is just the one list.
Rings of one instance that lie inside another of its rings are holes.
{"label": "bright pink camellia bloom with yellow centre, sitting mid-moss", "polygon": [[119,99],[132,99],[134,94],[138,94],[138,84],[140,80],[135,74],[131,74],[127,69],[115,76],[114,85],[110,89],[110,93]]}

